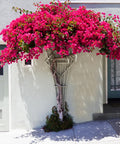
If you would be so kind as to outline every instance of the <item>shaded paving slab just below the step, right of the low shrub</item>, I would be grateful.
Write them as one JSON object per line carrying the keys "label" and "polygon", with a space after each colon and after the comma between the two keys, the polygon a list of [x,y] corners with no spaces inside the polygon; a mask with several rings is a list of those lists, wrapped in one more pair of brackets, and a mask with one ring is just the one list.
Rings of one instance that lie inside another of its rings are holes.
{"label": "shaded paving slab just below the step, right of the low shrub", "polygon": [[116,132],[107,121],[92,121],[73,127],[76,141],[100,140],[104,137],[116,137]]}

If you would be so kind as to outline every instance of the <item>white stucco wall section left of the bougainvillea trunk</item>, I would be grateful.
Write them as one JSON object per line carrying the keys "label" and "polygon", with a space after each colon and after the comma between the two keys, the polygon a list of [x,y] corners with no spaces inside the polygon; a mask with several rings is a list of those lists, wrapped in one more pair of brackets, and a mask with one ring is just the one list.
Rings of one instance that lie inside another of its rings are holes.
{"label": "white stucco wall section left of the bougainvillea trunk", "polygon": [[45,53],[33,66],[11,65],[12,128],[35,128],[45,124],[56,105],[54,82],[45,62]]}

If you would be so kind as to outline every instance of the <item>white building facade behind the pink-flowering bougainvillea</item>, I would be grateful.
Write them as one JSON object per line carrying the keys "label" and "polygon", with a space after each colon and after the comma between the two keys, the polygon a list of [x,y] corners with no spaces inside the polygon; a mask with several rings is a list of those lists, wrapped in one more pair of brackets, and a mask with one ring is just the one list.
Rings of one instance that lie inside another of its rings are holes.
{"label": "white building facade behind the pink-flowering bougainvillea", "polygon": [[[10,21],[19,17],[19,14],[12,11],[13,6],[34,10],[33,2],[39,1],[1,0],[0,31]],[[120,12],[120,2],[117,0],[71,2],[71,6],[75,8],[81,5],[108,14]],[[4,47],[5,43],[0,37],[0,49]],[[0,131],[38,128],[45,124],[46,116],[56,105],[54,81],[45,62],[46,57],[46,53],[43,53],[38,60],[32,60],[29,66],[19,61],[5,65],[3,70],[0,70]],[[90,121],[94,113],[103,112],[103,104],[108,101],[111,87],[108,81],[112,78],[109,79],[108,72],[110,73],[108,60],[103,56],[96,56],[96,52],[77,55],[76,61],[69,70],[65,96],[69,113],[75,123]]]}

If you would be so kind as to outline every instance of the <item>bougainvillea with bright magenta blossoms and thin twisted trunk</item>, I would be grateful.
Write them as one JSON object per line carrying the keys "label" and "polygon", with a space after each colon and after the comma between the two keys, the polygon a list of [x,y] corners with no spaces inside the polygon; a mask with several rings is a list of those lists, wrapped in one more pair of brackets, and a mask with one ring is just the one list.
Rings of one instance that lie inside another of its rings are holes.
{"label": "bougainvillea with bright magenta blossoms and thin twisted trunk", "polygon": [[[38,59],[45,51],[63,58],[81,52],[92,52],[120,59],[119,16],[95,13],[84,6],[73,9],[67,3],[50,2],[35,4],[36,11],[22,11],[1,31],[6,48],[1,51],[0,62],[4,66],[18,60]],[[52,64],[51,64],[52,67]],[[52,74],[55,73],[52,71]],[[55,77],[57,80],[57,76]],[[59,96],[61,85],[58,81]],[[58,104],[59,105],[59,104]],[[58,113],[62,120],[62,108]]]}

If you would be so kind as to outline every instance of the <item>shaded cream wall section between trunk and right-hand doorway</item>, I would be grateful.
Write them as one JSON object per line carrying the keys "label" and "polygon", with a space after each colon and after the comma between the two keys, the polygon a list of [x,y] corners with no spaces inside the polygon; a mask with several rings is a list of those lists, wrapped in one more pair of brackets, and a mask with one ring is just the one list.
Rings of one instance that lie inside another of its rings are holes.
{"label": "shaded cream wall section between trunk and right-hand doorway", "polygon": [[103,107],[103,57],[78,54],[68,76],[66,101],[76,123],[92,120]]}

